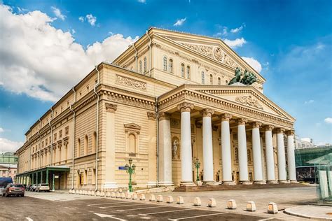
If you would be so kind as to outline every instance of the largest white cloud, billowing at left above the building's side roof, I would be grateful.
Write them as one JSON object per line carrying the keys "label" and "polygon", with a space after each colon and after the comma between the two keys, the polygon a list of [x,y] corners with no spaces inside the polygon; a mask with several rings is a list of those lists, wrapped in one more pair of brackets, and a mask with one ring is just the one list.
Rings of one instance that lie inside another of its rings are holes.
{"label": "largest white cloud, billowing at left above the building's side roof", "polygon": [[57,101],[95,64],[112,61],[138,38],[113,34],[85,50],[41,11],[17,15],[0,5],[0,17],[0,32],[6,33],[0,35],[6,42],[0,44],[0,87],[44,101]]}

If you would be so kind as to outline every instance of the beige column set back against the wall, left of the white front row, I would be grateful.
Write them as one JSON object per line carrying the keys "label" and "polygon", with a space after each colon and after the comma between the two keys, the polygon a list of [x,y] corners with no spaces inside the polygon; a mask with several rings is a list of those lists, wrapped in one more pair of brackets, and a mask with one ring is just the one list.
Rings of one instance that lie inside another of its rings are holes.
{"label": "beige column set back against the wall, left of the white front row", "polygon": [[159,183],[161,186],[174,185],[172,182],[172,138],[170,114],[159,113]]}

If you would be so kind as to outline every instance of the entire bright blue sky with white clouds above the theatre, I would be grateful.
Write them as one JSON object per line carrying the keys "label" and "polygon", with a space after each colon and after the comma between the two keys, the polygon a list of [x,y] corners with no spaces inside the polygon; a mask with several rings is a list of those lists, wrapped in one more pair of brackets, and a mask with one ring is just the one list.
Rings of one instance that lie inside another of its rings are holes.
{"label": "entire bright blue sky with white clouds above the theatre", "polygon": [[0,152],[17,148],[53,101],[151,26],[223,39],[261,71],[267,80],[264,93],[296,117],[296,134],[332,143],[331,4],[5,0]]}

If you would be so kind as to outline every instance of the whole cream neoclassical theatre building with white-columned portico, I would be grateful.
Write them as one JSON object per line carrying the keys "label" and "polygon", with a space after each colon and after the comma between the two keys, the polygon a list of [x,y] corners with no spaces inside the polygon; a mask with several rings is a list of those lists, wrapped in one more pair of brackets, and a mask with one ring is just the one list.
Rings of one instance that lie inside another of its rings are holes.
{"label": "whole cream neoclassical theatre building with white-columned portico", "polygon": [[[252,85],[228,85],[236,68]],[[223,41],[151,28],[29,128],[18,182],[55,189],[296,182],[295,119]]]}

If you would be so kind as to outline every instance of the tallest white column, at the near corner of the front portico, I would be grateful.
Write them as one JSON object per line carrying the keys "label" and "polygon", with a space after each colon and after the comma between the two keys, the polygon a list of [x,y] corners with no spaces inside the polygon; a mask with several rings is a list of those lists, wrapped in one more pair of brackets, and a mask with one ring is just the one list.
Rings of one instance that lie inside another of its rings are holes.
{"label": "tallest white column, at the near corner of the front portico", "polygon": [[191,110],[193,104],[183,103],[177,107],[181,111],[181,185],[193,183],[193,156],[191,152]]}

